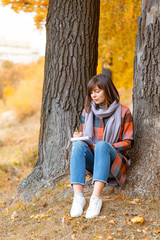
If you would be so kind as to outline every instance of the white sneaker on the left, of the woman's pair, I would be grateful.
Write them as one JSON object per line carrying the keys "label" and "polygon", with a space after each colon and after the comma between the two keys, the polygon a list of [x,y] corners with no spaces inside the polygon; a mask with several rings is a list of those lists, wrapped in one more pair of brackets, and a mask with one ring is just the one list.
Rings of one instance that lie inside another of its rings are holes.
{"label": "white sneaker on the left, of the woman's pair", "polygon": [[86,205],[85,197],[75,195],[70,211],[71,217],[81,216],[85,205]]}

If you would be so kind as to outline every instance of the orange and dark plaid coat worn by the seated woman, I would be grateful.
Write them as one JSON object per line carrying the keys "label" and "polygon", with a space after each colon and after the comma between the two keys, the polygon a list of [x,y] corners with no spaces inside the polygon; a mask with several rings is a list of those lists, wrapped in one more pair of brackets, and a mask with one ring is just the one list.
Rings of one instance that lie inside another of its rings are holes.
{"label": "orange and dark plaid coat worn by the seated woman", "polygon": [[[86,112],[83,110],[80,123],[80,131],[83,132]],[[94,119],[94,138],[96,142],[102,141],[104,123],[107,119],[101,121],[95,116]],[[112,146],[117,151],[117,156],[111,166],[111,173],[114,178],[108,178],[109,185],[121,188],[126,180],[126,169],[130,166],[130,158],[126,155],[127,151],[133,146],[133,120],[128,107],[121,105],[121,131],[117,142]]]}

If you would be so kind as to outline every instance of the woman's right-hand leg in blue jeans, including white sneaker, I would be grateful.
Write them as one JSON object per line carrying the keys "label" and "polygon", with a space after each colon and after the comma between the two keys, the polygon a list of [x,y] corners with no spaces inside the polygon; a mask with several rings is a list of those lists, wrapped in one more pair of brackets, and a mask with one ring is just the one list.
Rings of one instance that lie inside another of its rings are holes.
{"label": "woman's right-hand leg in blue jeans, including white sneaker", "polygon": [[90,199],[86,218],[94,218],[99,215],[102,207],[102,191],[107,183],[111,163],[116,158],[116,150],[107,142],[98,142],[94,149],[94,189]]}

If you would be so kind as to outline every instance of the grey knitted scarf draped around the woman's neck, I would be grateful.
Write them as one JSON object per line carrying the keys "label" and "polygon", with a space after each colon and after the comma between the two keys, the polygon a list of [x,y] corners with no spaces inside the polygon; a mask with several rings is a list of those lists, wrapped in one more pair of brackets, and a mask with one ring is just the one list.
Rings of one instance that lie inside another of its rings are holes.
{"label": "grey knitted scarf draped around the woman's neck", "polygon": [[107,109],[96,109],[94,102],[91,104],[91,111],[86,113],[83,136],[89,136],[93,140],[93,115],[100,118],[109,117],[103,132],[103,141],[115,143],[121,130],[121,104],[114,101]]}

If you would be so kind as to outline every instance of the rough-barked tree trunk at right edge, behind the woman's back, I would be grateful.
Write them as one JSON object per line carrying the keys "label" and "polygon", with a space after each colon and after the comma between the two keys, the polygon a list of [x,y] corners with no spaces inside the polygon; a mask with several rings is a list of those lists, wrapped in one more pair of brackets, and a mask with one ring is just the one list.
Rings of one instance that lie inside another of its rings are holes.
{"label": "rough-barked tree trunk at right edge, behind the woman's back", "polygon": [[[160,199],[160,2],[142,1],[134,64],[135,145],[124,188],[110,191]],[[108,193],[108,192],[107,192]]]}

